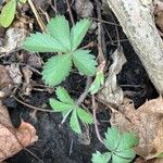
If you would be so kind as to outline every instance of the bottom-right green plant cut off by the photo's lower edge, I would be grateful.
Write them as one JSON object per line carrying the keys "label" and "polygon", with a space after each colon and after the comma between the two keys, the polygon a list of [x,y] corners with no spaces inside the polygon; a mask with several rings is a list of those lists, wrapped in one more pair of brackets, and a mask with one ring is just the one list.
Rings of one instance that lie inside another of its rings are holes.
{"label": "bottom-right green plant cut off by the photo's lower edge", "polygon": [[134,147],[139,142],[131,133],[121,133],[116,127],[108,128],[105,133],[104,146],[109,152],[92,154],[92,163],[130,163],[136,156]]}

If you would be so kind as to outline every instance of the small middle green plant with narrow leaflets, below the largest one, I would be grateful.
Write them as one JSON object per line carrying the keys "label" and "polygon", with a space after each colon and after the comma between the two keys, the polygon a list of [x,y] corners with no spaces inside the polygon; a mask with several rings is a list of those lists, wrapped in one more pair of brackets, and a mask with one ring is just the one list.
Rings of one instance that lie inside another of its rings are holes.
{"label": "small middle green plant with narrow leaflets, below the largest one", "polygon": [[62,113],[63,120],[71,114],[70,126],[75,133],[82,133],[79,120],[86,124],[93,123],[91,114],[79,108],[63,87],[58,87],[55,93],[59,100],[50,99],[50,105],[54,112]]}

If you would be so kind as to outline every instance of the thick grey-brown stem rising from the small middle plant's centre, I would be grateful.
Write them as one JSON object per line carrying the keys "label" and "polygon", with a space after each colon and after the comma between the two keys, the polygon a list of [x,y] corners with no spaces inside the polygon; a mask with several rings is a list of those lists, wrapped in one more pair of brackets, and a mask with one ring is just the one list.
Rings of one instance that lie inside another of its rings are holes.
{"label": "thick grey-brown stem rising from the small middle plant's centre", "polygon": [[91,85],[91,77],[87,77],[87,82],[86,82],[86,87],[85,87],[85,90],[84,92],[80,95],[80,97],[78,98],[78,100],[76,101],[76,104],[77,105],[80,105],[84,100],[86,99],[87,95],[88,95],[88,90],[89,90],[89,87]]}

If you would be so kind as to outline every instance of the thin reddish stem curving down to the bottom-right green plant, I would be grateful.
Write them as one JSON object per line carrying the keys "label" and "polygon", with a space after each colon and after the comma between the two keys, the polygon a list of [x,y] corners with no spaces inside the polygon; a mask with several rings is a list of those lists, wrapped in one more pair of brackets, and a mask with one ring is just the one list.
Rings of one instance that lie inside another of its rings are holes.
{"label": "thin reddish stem curving down to the bottom-right green plant", "polygon": [[91,100],[92,100],[92,113],[93,113],[93,122],[95,122],[96,134],[97,134],[97,137],[98,137],[99,141],[104,145],[104,142],[103,142],[101,136],[100,136],[99,128],[98,128],[98,121],[97,121],[97,115],[96,115],[97,114],[97,105],[96,105],[96,100],[95,100],[93,95],[91,96]]}

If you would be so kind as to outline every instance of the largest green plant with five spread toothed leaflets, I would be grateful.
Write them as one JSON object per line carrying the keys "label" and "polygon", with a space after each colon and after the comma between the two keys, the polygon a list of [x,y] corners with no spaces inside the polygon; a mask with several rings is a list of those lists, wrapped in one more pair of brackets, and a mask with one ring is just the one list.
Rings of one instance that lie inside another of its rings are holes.
{"label": "largest green plant with five spread toothed leaflets", "polygon": [[70,29],[65,17],[58,15],[48,23],[46,33],[33,34],[25,40],[24,48],[28,51],[58,52],[43,66],[42,78],[46,84],[59,85],[68,76],[73,64],[84,75],[96,74],[95,57],[89,50],[77,49],[90,24],[90,20],[85,18]]}

